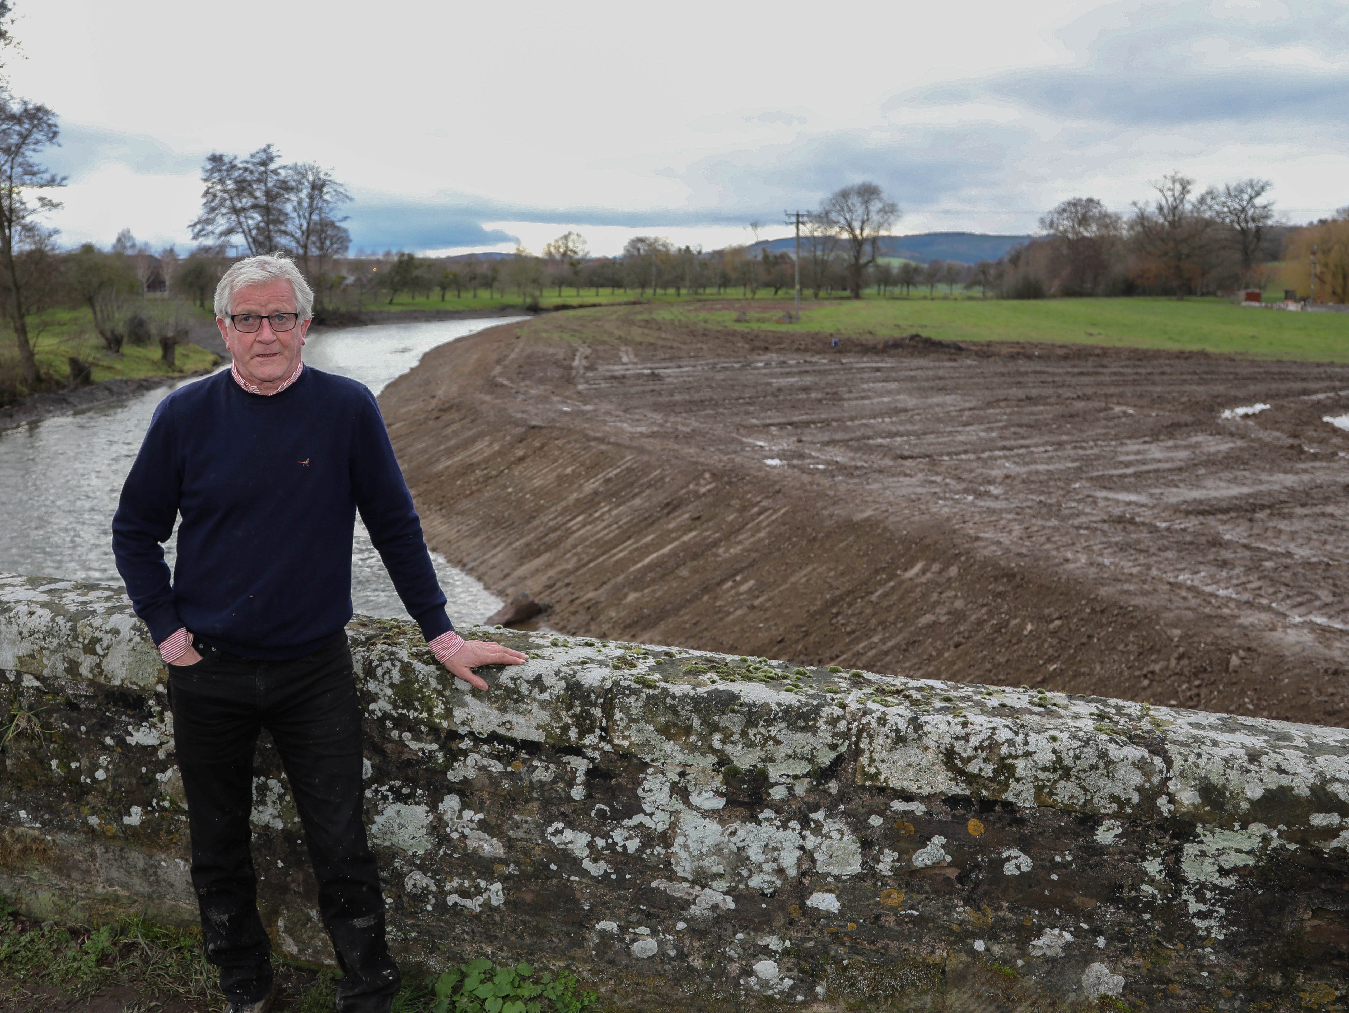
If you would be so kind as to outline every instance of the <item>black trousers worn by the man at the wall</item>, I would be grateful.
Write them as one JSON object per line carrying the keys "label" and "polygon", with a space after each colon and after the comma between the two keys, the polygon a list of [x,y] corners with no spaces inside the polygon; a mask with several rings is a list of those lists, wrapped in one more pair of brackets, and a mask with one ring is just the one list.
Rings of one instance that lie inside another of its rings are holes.
{"label": "black trousers worn by the man at the wall", "polygon": [[337,1009],[387,1013],[399,974],[384,944],[384,900],[362,821],[360,707],[347,634],[294,661],[251,661],[197,643],[169,666],[178,770],[192,830],[192,884],[206,959],[235,1002],[271,987],[271,940],[258,916],[250,852],[254,751],[267,728],[281,753],[318,879],[318,910],[344,977]]}

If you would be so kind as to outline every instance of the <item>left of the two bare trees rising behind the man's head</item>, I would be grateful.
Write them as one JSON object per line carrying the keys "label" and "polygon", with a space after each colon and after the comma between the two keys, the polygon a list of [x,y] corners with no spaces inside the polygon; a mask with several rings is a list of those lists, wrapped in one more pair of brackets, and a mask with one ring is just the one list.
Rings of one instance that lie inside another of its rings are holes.
{"label": "left of the two bare trees rising behind the man's head", "polygon": [[192,223],[193,239],[243,240],[250,256],[270,254],[286,239],[293,189],[287,166],[271,144],[248,158],[213,151],[201,167],[201,214]]}

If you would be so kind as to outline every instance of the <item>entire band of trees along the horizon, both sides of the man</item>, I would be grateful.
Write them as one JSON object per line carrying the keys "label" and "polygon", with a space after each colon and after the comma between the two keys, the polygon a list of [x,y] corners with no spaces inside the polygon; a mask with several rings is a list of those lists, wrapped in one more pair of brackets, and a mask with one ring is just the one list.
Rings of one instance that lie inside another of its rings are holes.
{"label": "entire band of trees along the horizon, both sides of the man", "polygon": [[[0,0],[0,45],[5,38]],[[567,232],[536,255],[523,247],[505,258],[424,258],[407,251],[349,256],[344,223],[351,193],[331,170],[287,163],[274,144],[248,155],[212,152],[202,165],[200,213],[189,223],[198,243],[179,258],[152,254],[130,231],[108,250],[61,250],[43,224],[61,205],[50,196],[65,179],[39,154],[57,143],[57,116],[45,105],[0,89],[0,302],[15,333],[22,386],[43,386],[32,328],[46,309],[88,306],[107,351],[159,343],[173,361],[190,320],[188,302],[205,308],[216,282],[239,256],[285,251],[295,256],[317,295],[320,317],[394,302],[399,295],[444,301],[468,294],[517,294],[526,306],[546,291],[583,298],[635,293],[680,295],[791,293],[800,278],[813,298],[981,295],[1041,298],[1166,294],[1184,298],[1225,289],[1265,287],[1271,262],[1298,293],[1349,302],[1349,208],[1306,227],[1280,221],[1267,179],[1241,179],[1201,190],[1171,173],[1153,196],[1128,213],[1094,197],[1063,201],[1040,219],[1040,235],[998,260],[919,264],[885,256],[884,239],[901,217],[873,182],[840,187],[800,214],[799,263],[793,252],[758,241],[703,250],[654,235],[634,236],[618,256],[591,255],[584,236]],[[757,235],[761,223],[751,223]],[[158,302],[155,297],[163,297]],[[152,305],[155,303],[155,305]],[[173,305],[167,305],[173,303]],[[71,361],[71,376],[82,368]],[[0,370],[4,372],[4,370]],[[50,386],[50,384],[49,384]]]}

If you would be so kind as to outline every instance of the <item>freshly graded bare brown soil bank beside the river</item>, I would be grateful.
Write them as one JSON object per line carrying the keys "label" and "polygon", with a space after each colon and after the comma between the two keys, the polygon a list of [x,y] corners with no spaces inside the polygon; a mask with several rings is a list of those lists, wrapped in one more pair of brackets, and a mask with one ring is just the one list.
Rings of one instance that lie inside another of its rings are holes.
{"label": "freshly graded bare brown soil bank beside the river", "polygon": [[623,308],[460,339],[383,407],[432,545],[560,630],[1349,719],[1345,366]]}

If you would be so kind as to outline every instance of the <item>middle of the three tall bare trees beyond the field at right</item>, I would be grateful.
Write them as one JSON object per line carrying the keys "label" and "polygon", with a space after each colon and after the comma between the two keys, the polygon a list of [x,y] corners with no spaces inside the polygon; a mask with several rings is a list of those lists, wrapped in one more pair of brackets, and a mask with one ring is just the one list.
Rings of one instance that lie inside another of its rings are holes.
{"label": "middle of the three tall bare trees beyond the field at right", "polygon": [[1171,173],[1152,183],[1152,205],[1135,201],[1130,228],[1139,252],[1171,282],[1175,297],[1195,291],[1213,252],[1214,193],[1194,196],[1194,179]]}

